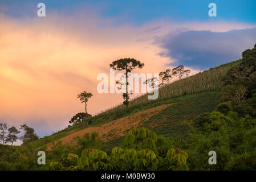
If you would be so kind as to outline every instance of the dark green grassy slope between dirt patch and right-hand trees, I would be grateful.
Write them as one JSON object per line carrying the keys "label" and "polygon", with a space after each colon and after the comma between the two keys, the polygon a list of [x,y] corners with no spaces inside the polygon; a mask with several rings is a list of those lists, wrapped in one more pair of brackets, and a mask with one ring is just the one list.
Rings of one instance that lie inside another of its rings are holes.
{"label": "dark green grassy slope between dirt patch and right-hand trees", "polygon": [[[217,92],[202,92],[173,100],[176,104],[166,107],[141,125],[157,134],[170,138],[188,137],[191,122],[197,115],[213,111],[216,107]],[[184,122],[186,121],[186,122]]]}

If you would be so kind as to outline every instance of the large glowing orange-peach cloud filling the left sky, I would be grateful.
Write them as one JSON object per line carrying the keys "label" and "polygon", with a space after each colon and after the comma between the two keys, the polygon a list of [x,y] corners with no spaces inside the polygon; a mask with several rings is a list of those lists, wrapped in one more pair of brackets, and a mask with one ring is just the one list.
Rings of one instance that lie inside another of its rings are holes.
{"label": "large glowing orange-peach cloud filling the left sky", "polygon": [[[111,61],[135,57],[147,65],[145,72],[159,72],[167,61],[157,55],[156,45],[137,42],[140,35],[129,26],[102,30],[58,17],[0,21],[0,117],[10,122],[44,118],[67,126],[72,115],[84,110],[76,99],[83,90],[94,93],[88,105],[92,114],[121,102],[121,96],[96,91],[96,77],[109,73]],[[58,121],[60,116],[66,121]]]}

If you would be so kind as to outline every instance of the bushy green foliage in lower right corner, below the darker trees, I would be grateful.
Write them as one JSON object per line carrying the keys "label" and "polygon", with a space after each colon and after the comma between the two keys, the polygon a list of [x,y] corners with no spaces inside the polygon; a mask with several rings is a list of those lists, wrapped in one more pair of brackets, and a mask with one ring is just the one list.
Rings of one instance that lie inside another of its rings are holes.
{"label": "bushy green foliage in lower right corner, below the darker trees", "polygon": [[[194,170],[253,170],[256,167],[256,120],[236,113],[209,114],[188,140],[189,167]],[[217,164],[208,164],[208,152],[217,152]]]}

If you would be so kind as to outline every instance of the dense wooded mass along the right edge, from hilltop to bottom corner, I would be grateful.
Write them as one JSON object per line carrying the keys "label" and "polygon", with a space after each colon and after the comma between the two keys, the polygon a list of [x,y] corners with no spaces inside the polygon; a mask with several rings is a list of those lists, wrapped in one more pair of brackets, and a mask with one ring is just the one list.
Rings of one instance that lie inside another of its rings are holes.
{"label": "dense wooded mass along the right edge, from hilltop to bottom corner", "polygon": [[[237,75],[237,71],[242,73]],[[194,119],[186,142],[176,146],[188,152],[194,170],[256,169],[256,44],[243,52],[242,63],[229,71],[212,113]],[[217,152],[217,164],[206,163],[209,151]]]}

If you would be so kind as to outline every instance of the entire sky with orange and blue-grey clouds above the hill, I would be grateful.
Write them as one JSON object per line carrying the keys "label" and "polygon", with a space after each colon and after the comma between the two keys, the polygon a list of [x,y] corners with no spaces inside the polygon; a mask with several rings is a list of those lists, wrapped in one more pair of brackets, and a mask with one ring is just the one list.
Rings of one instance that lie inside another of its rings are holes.
{"label": "entire sky with orange and blue-grey clouds above the hill", "polygon": [[145,63],[139,73],[183,64],[194,74],[238,60],[256,43],[255,8],[253,0],[0,0],[0,123],[26,123],[44,137],[84,111],[76,98],[84,90],[94,94],[90,114],[120,104],[121,94],[97,93],[96,77],[123,57]]}

